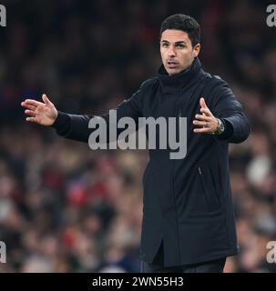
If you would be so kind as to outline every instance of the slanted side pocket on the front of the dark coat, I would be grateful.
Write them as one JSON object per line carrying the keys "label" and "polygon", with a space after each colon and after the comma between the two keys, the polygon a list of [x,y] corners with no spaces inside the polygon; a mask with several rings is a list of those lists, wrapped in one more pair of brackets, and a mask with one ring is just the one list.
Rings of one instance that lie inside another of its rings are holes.
{"label": "slanted side pocket on the front of the dark coat", "polygon": [[[220,212],[220,198],[218,196],[215,183],[216,177],[212,175],[210,167],[207,165],[199,166],[199,177],[203,195],[206,198],[208,209],[210,212]],[[217,177],[218,179],[219,177]]]}

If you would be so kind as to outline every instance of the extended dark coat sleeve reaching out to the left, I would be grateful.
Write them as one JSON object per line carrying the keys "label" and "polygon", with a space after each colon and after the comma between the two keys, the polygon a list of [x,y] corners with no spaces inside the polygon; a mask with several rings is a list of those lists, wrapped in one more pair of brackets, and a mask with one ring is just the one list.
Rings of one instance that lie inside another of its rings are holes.
{"label": "extended dark coat sleeve reaching out to the left", "polygon": [[[116,110],[117,121],[121,117],[131,117],[135,120],[136,129],[138,129],[138,117],[142,116],[141,98],[144,92],[144,84],[145,82],[129,99],[125,99],[118,107],[113,109]],[[96,130],[96,128],[89,128],[89,122],[92,118],[100,119],[99,117],[103,118],[107,124],[107,142],[113,141],[108,139],[110,111],[105,115],[70,115],[58,111],[56,121],[52,126],[56,128],[56,133],[62,137],[88,142],[89,135]],[[123,130],[124,128],[118,129],[116,137],[118,137],[118,134]],[[116,138],[114,140],[116,140]]]}

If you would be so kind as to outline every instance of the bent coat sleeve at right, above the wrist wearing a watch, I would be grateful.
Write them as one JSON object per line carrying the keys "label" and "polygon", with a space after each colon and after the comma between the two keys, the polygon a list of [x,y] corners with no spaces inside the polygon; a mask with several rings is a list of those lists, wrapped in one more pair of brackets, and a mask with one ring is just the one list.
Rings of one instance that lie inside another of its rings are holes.
{"label": "bent coat sleeve at right, above the wrist wearing a watch", "polygon": [[222,120],[226,128],[222,135],[216,135],[219,140],[239,144],[248,138],[250,125],[243,107],[227,83],[221,79],[214,88],[210,110]]}

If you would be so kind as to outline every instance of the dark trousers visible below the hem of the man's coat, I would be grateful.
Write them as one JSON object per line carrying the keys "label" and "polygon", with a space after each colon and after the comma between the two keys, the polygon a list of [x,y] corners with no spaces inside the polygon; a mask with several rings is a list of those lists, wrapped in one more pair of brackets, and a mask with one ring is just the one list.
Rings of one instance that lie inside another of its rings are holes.
{"label": "dark trousers visible below the hem of the man's coat", "polygon": [[223,273],[226,257],[218,260],[183,266],[164,266],[163,244],[158,249],[158,253],[152,263],[140,262],[141,273]]}

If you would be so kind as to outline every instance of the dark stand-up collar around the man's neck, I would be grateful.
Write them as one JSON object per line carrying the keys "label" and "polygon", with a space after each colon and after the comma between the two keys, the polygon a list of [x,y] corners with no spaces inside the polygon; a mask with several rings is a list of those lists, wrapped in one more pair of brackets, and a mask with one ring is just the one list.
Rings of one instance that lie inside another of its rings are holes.
{"label": "dark stand-up collar around the man's neck", "polygon": [[158,69],[158,79],[162,85],[184,87],[199,73],[200,69],[201,64],[198,57],[195,57],[186,70],[174,75],[168,75],[164,65],[161,65]]}

